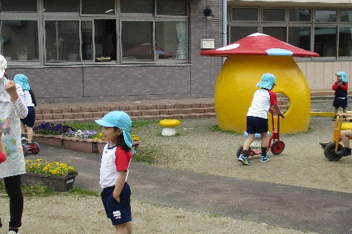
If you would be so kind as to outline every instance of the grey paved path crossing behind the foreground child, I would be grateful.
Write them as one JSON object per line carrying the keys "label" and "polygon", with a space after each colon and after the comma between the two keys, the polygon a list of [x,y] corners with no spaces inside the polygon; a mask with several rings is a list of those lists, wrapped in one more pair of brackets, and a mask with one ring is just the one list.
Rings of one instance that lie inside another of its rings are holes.
{"label": "grey paved path crossing behind the foreground child", "polygon": [[[37,156],[77,167],[75,184],[100,191],[96,154],[41,145]],[[352,233],[352,194],[239,180],[132,163],[135,200],[316,233]]]}

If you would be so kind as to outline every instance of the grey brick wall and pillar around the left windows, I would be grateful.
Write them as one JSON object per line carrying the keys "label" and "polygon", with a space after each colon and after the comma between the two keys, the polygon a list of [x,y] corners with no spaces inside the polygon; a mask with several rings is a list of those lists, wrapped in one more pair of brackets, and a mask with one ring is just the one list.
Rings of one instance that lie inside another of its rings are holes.
{"label": "grey brick wall and pillar around the left windows", "polygon": [[[190,0],[188,64],[9,66],[8,74],[28,75],[38,103],[213,98],[222,58],[199,56],[199,45],[215,38],[215,47],[221,46],[221,3]],[[206,6],[215,14],[211,20],[204,17]]]}

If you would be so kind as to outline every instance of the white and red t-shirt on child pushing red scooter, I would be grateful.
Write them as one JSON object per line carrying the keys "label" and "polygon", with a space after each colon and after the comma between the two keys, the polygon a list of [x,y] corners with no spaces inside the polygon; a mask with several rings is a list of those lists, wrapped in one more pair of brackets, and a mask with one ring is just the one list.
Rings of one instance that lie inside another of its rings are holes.
{"label": "white and red t-shirt on child pushing red scooter", "polygon": [[271,105],[277,105],[276,94],[272,90],[257,89],[254,93],[251,107],[248,109],[247,116],[268,118],[268,110]]}

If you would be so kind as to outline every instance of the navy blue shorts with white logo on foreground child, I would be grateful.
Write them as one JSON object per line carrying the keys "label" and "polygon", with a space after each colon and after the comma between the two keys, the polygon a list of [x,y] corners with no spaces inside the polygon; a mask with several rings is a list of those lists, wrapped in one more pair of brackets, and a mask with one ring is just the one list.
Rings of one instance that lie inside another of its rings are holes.
{"label": "navy blue shorts with white logo on foreground child", "polygon": [[132,221],[130,212],[130,186],[125,183],[120,194],[120,203],[113,197],[115,186],[103,189],[101,200],[103,201],[106,216],[113,225],[124,224]]}

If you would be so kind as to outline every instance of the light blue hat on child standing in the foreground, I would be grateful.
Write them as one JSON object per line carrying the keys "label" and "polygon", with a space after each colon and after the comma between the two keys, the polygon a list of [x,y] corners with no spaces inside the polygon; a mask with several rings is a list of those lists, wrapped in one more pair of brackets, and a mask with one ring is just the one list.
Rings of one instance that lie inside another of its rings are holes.
{"label": "light blue hat on child standing in the foreground", "polygon": [[126,145],[132,147],[133,140],[130,136],[132,121],[130,120],[130,116],[124,111],[110,111],[103,118],[95,120],[95,123],[103,127],[118,127],[124,133]]}

